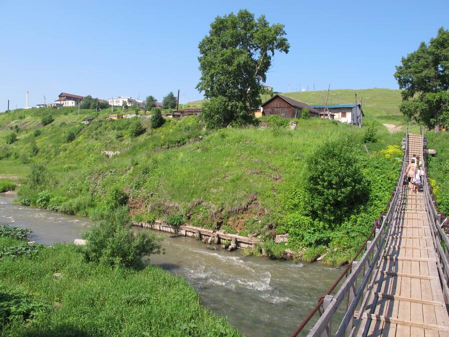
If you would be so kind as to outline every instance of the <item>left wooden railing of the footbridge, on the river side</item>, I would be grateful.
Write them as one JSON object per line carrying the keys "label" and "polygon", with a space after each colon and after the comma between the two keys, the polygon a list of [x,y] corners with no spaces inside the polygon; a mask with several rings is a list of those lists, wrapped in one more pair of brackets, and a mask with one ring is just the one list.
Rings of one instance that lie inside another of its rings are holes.
{"label": "left wooden railing of the footbridge, on the river side", "polygon": [[[405,137],[405,151],[403,158],[403,165],[401,168],[401,174],[399,175],[396,183],[393,198],[389,203],[388,212],[386,215],[382,214],[379,220],[375,221],[373,231],[368,238],[368,241],[359,250],[352,263],[350,263],[343,274],[334,284],[334,286],[328,291],[327,295],[318,301],[317,306],[309,314],[309,316],[302,322],[298,329],[293,333],[292,337],[297,336],[304,326],[310,321],[316,312],[320,311],[321,305],[324,307],[324,312],[313,326],[308,336],[331,336],[332,333],[332,321],[335,313],[340,309],[342,305],[346,304],[346,314],[340,323],[340,326],[336,330],[335,336],[353,335],[360,326],[362,314],[367,306],[368,296],[367,292],[372,287],[377,271],[376,266],[381,258],[381,253],[384,249],[387,241],[387,236],[390,231],[390,223],[394,216],[394,209],[399,201],[399,195],[403,189],[403,179],[405,176],[405,170],[407,168],[407,155],[409,149],[408,129],[406,127]],[[374,238],[373,238],[374,235]],[[358,256],[365,250],[360,260],[357,261]],[[335,295],[331,295],[336,285],[347,276],[346,280],[341,285],[340,289]],[[362,278],[359,285],[358,280]],[[357,318],[354,318],[356,310],[359,310]]]}

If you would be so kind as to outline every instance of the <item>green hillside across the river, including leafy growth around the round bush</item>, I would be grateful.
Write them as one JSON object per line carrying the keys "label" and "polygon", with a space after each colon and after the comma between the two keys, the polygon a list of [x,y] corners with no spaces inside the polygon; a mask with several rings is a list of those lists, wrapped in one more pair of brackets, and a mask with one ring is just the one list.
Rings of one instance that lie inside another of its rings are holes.
{"label": "green hillside across the river, including leafy growth around the round bush", "polygon": [[[324,263],[335,265],[351,258],[385,209],[402,157],[402,135],[385,128],[377,142],[364,143],[366,128],[314,118],[298,120],[295,130],[271,117],[267,128],[206,130],[201,116],[191,116],[152,130],[147,118],[108,120],[108,113],[61,108],[1,115],[0,139],[11,132],[17,137],[0,145],[1,174],[23,183],[18,201],[92,219],[110,203],[126,203],[135,221],[257,237],[273,257],[289,248],[313,261],[329,250]],[[54,121],[43,126],[47,114]],[[87,116],[96,119],[81,124]],[[133,137],[136,123],[146,132]],[[369,195],[344,219],[323,225],[298,209],[307,185],[304,163],[325,141],[357,159]],[[120,153],[109,158],[102,151]],[[274,236],[284,233],[288,243],[274,245]]]}

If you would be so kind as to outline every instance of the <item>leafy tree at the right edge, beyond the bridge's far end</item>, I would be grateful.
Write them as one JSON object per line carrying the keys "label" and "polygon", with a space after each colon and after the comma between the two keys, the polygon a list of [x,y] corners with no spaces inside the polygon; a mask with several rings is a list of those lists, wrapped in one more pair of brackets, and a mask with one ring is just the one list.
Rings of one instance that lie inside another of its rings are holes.
{"label": "leafy tree at the right edge, beyond the bridge's far end", "polygon": [[395,78],[402,91],[401,111],[440,131],[449,127],[449,30],[401,59]]}

